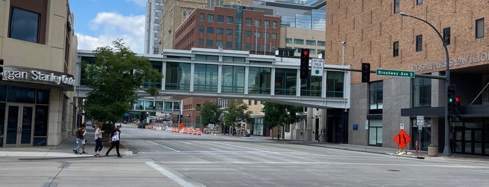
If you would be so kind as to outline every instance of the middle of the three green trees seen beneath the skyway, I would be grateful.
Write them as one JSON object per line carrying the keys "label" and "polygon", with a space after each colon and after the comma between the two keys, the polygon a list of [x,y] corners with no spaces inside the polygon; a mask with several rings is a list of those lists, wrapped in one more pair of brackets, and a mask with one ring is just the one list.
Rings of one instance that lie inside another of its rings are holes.
{"label": "middle of the three green trees seen beneath the skyway", "polygon": [[227,127],[232,126],[234,128],[236,127],[236,125],[241,126],[241,121],[250,123],[251,122],[250,114],[252,114],[253,112],[247,110],[248,110],[248,105],[246,105],[243,102],[243,100],[238,100],[238,99],[229,100],[226,107],[227,113],[224,115],[225,126]]}

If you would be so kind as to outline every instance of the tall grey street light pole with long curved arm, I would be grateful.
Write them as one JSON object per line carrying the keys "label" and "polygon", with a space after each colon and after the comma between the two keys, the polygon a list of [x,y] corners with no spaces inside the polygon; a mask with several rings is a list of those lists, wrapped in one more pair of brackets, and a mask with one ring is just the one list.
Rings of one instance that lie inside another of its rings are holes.
{"label": "tall grey street light pole with long curved arm", "polygon": [[406,13],[400,13],[401,16],[405,17],[412,17],[416,20],[420,20],[421,22],[425,22],[425,24],[430,25],[434,31],[437,32],[438,36],[441,39],[441,42],[443,43],[443,47],[445,48],[445,56],[446,56],[446,61],[445,61],[445,147],[443,154],[444,156],[452,156],[452,153],[450,151],[450,126],[448,124],[448,105],[447,105],[447,100],[448,100],[448,86],[450,85],[450,57],[448,57],[448,48],[446,47],[445,40],[443,39],[443,36],[441,36],[440,32],[437,30],[437,28],[434,28],[432,24],[427,22],[426,20],[423,20],[419,17],[414,17],[412,15],[406,14]]}

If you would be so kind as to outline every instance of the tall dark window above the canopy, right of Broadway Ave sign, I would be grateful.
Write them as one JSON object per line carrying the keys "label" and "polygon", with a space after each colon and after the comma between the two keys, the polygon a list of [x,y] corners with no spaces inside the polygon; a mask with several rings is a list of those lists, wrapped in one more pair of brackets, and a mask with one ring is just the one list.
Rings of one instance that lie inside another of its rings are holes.
{"label": "tall dark window above the canopy, right of Broadway Ave sign", "polygon": [[431,106],[431,79],[416,77],[413,79],[413,107]]}

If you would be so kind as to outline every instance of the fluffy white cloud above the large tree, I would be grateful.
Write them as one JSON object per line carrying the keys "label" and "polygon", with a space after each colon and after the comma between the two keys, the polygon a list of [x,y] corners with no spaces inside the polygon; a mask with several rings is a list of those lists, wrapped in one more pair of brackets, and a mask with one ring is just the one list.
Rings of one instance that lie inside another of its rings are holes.
{"label": "fluffy white cloud above the large tree", "polygon": [[96,36],[76,33],[78,49],[95,50],[97,47],[112,46],[113,40],[121,38],[132,51],[143,53],[145,19],[145,15],[97,13],[97,16],[90,21],[90,30],[94,31]]}

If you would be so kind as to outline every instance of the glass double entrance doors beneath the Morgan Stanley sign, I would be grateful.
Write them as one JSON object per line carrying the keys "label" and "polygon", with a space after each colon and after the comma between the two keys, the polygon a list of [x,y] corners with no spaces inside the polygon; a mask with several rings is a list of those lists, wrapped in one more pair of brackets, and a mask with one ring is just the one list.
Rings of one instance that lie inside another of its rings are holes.
{"label": "glass double entrance doors beneath the Morgan Stanley sign", "polygon": [[34,105],[8,104],[5,147],[31,147]]}

